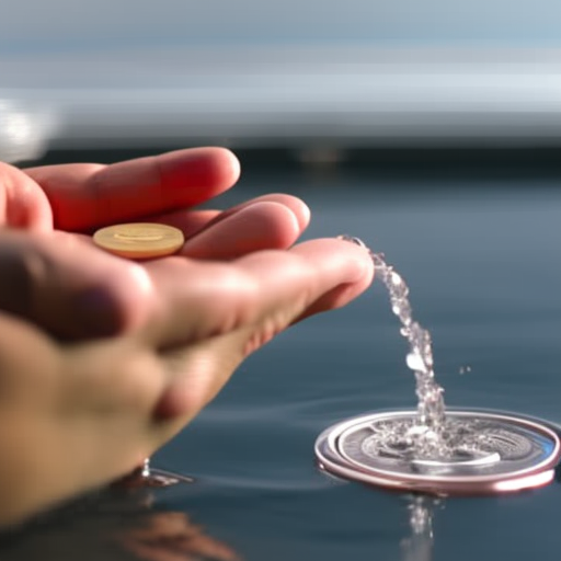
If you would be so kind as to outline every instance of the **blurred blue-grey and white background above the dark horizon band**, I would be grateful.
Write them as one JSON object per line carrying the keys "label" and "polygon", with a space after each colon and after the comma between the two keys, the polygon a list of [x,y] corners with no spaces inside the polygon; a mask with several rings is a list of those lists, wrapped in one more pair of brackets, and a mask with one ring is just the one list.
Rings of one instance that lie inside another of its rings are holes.
{"label": "blurred blue-grey and white background above the dark horizon band", "polygon": [[561,141],[557,0],[2,5],[11,159],[219,144],[332,160]]}

